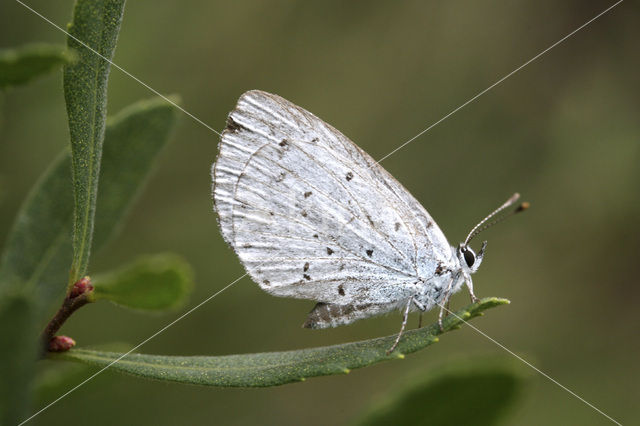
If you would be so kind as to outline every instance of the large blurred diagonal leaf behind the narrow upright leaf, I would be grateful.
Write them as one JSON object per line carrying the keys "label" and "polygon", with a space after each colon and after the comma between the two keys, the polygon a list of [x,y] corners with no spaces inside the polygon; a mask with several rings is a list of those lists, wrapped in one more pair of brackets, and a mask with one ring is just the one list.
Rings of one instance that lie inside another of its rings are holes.
{"label": "large blurred diagonal leaf behind the narrow upright leaf", "polygon": [[[95,249],[117,231],[169,140],[176,116],[171,104],[155,98],[137,102],[109,119]],[[59,302],[71,262],[72,194],[71,161],[65,151],[39,179],[18,212],[0,259],[0,289],[29,289],[45,306],[53,300]]]}

